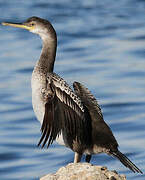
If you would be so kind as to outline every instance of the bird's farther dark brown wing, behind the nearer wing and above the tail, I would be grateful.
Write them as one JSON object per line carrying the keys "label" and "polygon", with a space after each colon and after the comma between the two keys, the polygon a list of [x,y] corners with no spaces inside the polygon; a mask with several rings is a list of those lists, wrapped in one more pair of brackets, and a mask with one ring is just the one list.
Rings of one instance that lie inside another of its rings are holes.
{"label": "bird's farther dark brown wing, behind the nearer wing and above the tail", "polygon": [[106,149],[116,149],[118,143],[113,136],[110,127],[105,123],[101,108],[91,92],[81,83],[74,82],[75,93],[80,97],[82,103],[89,111],[92,119],[92,139],[93,143]]}

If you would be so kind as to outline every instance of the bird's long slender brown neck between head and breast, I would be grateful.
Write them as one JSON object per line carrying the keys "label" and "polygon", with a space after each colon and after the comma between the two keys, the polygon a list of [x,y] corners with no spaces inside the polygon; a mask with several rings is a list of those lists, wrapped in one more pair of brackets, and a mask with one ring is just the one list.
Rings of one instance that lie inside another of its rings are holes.
{"label": "bird's long slender brown neck between head and breast", "polygon": [[44,73],[53,72],[54,61],[56,56],[57,40],[54,39],[42,39],[43,47],[39,61],[36,64],[36,68],[42,70]]}

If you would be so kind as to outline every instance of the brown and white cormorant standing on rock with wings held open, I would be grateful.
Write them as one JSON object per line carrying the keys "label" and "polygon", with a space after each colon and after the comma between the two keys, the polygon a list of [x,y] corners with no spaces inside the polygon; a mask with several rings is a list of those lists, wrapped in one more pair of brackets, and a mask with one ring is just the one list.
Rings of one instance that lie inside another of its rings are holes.
{"label": "brown and white cormorant standing on rock with wings held open", "polygon": [[41,124],[38,146],[49,147],[55,140],[74,151],[74,163],[80,162],[83,154],[89,163],[93,154],[106,153],[133,172],[142,173],[119,151],[117,140],[89,89],[74,82],[73,90],[53,71],[57,34],[52,24],[33,16],[23,23],[3,22],[2,25],[26,29],[42,39],[41,55],[31,78],[32,106]]}

